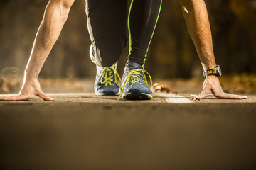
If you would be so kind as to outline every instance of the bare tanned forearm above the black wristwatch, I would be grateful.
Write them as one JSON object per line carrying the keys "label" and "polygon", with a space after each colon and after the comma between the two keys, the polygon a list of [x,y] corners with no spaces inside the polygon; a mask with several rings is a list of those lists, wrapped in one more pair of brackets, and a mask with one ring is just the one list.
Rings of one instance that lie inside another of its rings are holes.
{"label": "bare tanned forearm above the black wristwatch", "polygon": [[203,0],[180,0],[188,31],[203,69],[216,66],[206,4]]}

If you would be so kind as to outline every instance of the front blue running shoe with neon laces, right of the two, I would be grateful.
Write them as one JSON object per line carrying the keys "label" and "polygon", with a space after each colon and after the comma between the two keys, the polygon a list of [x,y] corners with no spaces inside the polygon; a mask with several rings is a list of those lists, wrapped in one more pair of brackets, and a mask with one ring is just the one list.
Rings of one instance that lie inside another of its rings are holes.
{"label": "front blue running shoe with neon laces, right of the two", "polygon": [[[122,77],[122,91],[119,98],[126,98],[129,100],[146,100],[151,99],[151,91],[148,82],[146,81],[146,70],[142,69],[137,63],[128,63],[124,76]],[[152,84],[152,79],[149,75]]]}

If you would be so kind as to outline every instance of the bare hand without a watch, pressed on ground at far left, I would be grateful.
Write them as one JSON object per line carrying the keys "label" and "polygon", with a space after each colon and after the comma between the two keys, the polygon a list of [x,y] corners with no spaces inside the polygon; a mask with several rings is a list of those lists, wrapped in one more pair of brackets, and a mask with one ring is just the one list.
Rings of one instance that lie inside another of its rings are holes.
{"label": "bare hand without a watch, pressed on ground at far left", "polygon": [[50,98],[43,93],[39,81],[37,79],[26,81],[21,87],[19,95],[16,96],[4,96],[0,98],[0,101],[27,101],[30,98],[41,97],[45,101],[53,101],[54,98]]}

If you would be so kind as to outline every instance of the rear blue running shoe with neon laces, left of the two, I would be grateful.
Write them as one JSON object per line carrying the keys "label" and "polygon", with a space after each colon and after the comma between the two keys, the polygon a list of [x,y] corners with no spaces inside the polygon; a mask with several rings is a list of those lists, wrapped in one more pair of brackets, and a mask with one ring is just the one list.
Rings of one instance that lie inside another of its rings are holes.
{"label": "rear blue running shoe with neon laces, left of the two", "polygon": [[121,81],[117,73],[117,64],[111,67],[98,67],[95,79],[95,94],[97,95],[116,95],[120,88],[117,85],[117,78]]}

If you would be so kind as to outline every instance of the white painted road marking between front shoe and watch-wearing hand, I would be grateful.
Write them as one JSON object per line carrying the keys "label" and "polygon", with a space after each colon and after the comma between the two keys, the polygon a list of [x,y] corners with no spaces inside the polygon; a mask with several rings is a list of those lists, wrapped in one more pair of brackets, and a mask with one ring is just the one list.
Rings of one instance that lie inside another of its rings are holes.
{"label": "white painted road marking between front shoe and watch-wearing hand", "polygon": [[176,95],[176,94],[159,93],[157,95],[164,97],[166,102],[168,102],[168,103],[193,103],[188,98],[183,97],[183,96],[179,96],[179,95]]}

